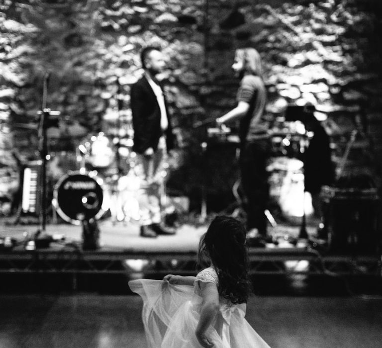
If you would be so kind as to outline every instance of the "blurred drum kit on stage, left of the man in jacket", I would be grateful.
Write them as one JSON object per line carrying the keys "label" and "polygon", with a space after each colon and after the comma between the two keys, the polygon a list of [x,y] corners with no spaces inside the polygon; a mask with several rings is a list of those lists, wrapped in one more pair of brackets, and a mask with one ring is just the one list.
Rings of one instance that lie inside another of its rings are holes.
{"label": "blurred drum kit on stage, left of the man in jacket", "polygon": [[[54,177],[60,175],[52,200],[58,215],[75,225],[93,218],[100,219],[108,212],[113,223],[138,222],[141,218],[139,190],[144,177],[132,146],[132,138],[120,139],[99,132],[83,139],[77,147],[76,168],[72,163],[65,168],[65,162],[55,170],[49,166],[48,170]],[[55,154],[52,159],[57,157],[60,156]],[[166,168],[168,166],[164,164],[163,170]]]}

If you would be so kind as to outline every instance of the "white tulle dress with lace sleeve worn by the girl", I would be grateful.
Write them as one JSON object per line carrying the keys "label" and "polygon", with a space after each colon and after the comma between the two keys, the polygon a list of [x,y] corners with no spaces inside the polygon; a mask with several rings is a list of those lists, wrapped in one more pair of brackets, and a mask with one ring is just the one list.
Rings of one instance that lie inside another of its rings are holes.
{"label": "white tulle dress with lace sleeve worn by the girl", "polygon": [[[195,330],[200,318],[200,282],[218,285],[213,267],[200,271],[194,285],[172,285],[162,280],[138,279],[130,289],[143,299],[142,320],[149,348],[200,348]],[[269,348],[245,320],[246,304],[220,298],[220,308],[207,337],[216,348]]]}

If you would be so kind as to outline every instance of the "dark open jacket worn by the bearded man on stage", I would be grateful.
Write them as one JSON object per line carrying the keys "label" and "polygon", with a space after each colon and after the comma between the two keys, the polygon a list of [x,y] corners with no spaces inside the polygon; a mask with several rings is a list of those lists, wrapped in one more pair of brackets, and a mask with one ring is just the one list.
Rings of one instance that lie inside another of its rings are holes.
{"label": "dark open jacket worn by the bearded man on stage", "polygon": [[[169,126],[165,131],[167,151],[169,151],[174,147],[174,135],[166,97],[165,105],[169,121]],[[130,106],[134,127],[133,151],[143,154],[150,147],[156,151],[159,138],[163,134],[161,129],[161,109],[157,97],[145,76],[131,86]]]}

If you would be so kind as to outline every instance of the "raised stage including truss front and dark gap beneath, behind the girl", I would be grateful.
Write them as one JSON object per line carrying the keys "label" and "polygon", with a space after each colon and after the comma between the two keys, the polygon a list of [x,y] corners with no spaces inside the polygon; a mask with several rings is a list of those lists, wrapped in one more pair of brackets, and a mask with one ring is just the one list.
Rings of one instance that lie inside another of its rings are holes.
{"label": "raised stage including truss front and dark gap beneath, behind the girl", "polygon": [[[63,238],[48,248],[26,250],[38,225],[0,225],[0,237],[18,241],[12,249],[0,249],[0,292],[35,293],[99,291],[124,294],[132,278],[162,279],[165,274],[196,274],[196,253],[205,224],[182,224],[175,235],[143,238],[134,223],[98,222],[101,247],[82,250],[82,227],[48,224],[46,233]],[[379,256],[337,255],[312,248],[298,239],[299,226],[269,229],[277,243],[249,248],[250,274],[262,278],[258,293],[379,293],[382,272]],[[307,226],[313,238],[316,229]],[[350,283],[349,283],[350,282]],[[283,285],[284,284],[284,285]],[[351,284],[351,289],[348,284]]]}

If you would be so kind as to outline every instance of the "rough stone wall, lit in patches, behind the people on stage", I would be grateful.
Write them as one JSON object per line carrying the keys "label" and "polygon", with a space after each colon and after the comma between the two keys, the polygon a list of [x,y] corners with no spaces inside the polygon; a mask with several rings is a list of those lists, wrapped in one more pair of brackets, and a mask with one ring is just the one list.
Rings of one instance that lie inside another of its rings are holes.
{"label": "rough stone wall, lit in patches, behind the people on stage", "polygon": [[[264,62],[268,114],[280,116],[281,98],[316,105],[337,166],[357,130],[344,173],[379,184],[380,29],[378,0],[4,0],[2,134],[10,131],[23,158],[37,156],[36,112],[47,72],[47,106],[61,112],[59,127],[48,131],[52,151],[73,151],[89,134],[114,134],[117,126],[129,134],[129,87],[142,73],[138,53],[160,45],[170,58],[164,80],[184,149],[172,186],[197,195],[205,127],[192,125],[235,106],[234,50],[251,45]],[[234,151],[228,161],[219,151],[213,149],[215,168],[225,170],[208,177],[211,195],[230,191],[235,178]]]}

